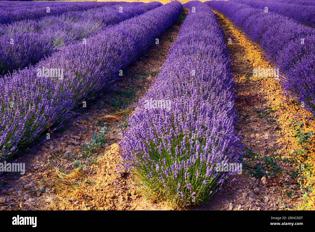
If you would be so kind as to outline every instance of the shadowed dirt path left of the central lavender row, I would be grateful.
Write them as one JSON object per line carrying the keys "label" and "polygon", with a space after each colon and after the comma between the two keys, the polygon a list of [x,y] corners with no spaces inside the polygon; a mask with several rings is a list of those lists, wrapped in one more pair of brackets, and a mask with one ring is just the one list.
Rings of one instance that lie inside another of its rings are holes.
{"label": "shadowed dirt path left of the central lavender row", "polygon": [[134,103],[162,68],[187,13],[183,11],[159,38],[159,45],[123,72],[115,91],[87,101],[67,129],[20,154],[14,162],[26,163],[26,173],[0,176],[0,210],[169,209],[146,201],[131,177],[117,172],[121,162],[117,143]]}

